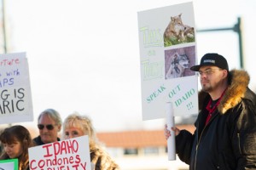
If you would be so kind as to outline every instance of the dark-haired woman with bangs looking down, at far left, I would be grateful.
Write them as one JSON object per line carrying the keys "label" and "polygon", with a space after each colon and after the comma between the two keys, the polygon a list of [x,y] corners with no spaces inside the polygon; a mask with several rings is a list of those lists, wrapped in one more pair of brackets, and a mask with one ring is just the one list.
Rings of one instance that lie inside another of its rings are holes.
{"label": "dark-haired woman with bangs looking down, at far left", "polygon": [[3,153],[0,160],[19,160],[19,170],[29,170],[28,148],[34,146],[31,135],[26,127],[15,125],[7,127],[0,135]]}

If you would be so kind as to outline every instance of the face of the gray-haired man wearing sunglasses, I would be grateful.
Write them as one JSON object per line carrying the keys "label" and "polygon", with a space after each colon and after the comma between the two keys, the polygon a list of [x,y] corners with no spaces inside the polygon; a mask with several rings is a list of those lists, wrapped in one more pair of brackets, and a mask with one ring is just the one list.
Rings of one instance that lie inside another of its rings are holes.
{"label": "face of the gray-haired man wearing sunglasses", "polygon": [[[53,119],[51,119],[47,115],[43,115],[40,117],[38,121],[38,125],[39,126],[44,125],[44,128],[39,129],[40,137],[42,142],[44,142],[44,144],[49,144],[57,141],[58,132],[60,131],[61,126],[57,125]],[[53,129],[49,127],[53,127]]]}

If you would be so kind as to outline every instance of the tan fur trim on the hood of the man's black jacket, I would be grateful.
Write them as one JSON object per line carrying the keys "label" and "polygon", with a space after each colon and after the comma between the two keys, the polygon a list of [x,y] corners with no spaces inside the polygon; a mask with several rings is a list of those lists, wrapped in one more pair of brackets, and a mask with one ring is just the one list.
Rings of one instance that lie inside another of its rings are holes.
{"label": "tan fur trim on the hood of the man's black jacket", "polygon": [[[241,98],[245,97],[250,77],[247,71],[232,70],[229,75],[230,85],[227,88],[223,98],[218,105],[218,111],[224,114],[230,108],[236,106],[241,102]],[[207,97],[206,92],[200,91],[199,93],[199,110],[203,105],[203,100]]]}

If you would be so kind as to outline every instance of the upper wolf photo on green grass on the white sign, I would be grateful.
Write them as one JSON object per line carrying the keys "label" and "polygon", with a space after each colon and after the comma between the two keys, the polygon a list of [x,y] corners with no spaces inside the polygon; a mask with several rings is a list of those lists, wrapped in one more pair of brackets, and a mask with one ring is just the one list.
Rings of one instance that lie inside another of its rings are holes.
{"label": "upper wolf photo on green grass on the white sign", "polygon": [[171,21],[164,32],[164,43],[171,46],[184,42],[195,42],[194,27],[183,24],[182,14],[171,16]]}

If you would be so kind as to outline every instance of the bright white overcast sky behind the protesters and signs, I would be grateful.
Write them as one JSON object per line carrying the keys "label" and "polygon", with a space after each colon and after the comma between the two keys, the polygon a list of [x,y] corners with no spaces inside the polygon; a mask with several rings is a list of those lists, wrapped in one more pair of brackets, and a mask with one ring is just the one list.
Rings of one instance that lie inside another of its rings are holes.
{"label": "bright white overcast sky behind the protesters and signs", "polygon": [[[2,2],[2,1],[1,1]],[[26,52],[36,127],[53,108],[62,119],[73,111],[90,116],[96,131],[163,128],[165,120],[142,120],[137,13],[190,1],[8,0],[8,53]],[[256,91],[253,0],[195,0],[197,30],[232,27],[242,19],[244,69]],[[197,32],[197,56],[223,54],[240,68],[233,31]],[[2,52],[3,53],[3,49]]]}

